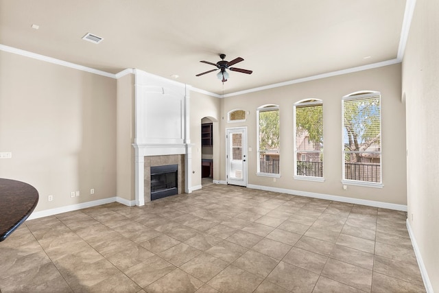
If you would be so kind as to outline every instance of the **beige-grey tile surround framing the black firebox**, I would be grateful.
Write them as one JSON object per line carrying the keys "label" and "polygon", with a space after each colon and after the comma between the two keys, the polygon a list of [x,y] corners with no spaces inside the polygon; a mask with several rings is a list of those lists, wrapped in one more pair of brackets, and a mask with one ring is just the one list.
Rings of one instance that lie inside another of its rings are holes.
{"label": "beige-grey tile surround framing the black firebox", "polygon": [[151,201],[151,167],[178,164],[178,194],[185,192],[185,155],[171,154],[165,156],[145,156],[144,196],[145,202]]}

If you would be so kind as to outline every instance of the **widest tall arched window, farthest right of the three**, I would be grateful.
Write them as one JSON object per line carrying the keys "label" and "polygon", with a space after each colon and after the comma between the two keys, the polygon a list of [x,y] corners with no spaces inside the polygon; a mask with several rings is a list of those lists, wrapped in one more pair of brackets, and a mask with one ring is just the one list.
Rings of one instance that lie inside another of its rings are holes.
{"label": "widest tall arched window, farthest right of the three", "polygon": [[342,115],[343,183],[381,187],[381,93],[344,96]]}

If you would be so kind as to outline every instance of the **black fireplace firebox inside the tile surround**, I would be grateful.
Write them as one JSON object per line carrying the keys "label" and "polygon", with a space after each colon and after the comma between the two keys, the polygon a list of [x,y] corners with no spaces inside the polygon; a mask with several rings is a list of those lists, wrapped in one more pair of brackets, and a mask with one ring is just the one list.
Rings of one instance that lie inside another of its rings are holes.
{"label": "black fireplace firebox inside the tile surround", "polygon": [[178,164],[151,167],[151,200],[178,194]]}

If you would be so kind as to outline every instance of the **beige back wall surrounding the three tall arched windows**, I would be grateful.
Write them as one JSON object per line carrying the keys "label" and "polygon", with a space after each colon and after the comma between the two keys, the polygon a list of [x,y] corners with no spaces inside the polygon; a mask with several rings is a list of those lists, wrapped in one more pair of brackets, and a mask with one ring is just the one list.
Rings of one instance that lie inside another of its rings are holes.
{"label": "beige back wall surrounding the three tall arched windows", "polygon": [[[382,189],[348,186],[342,189],[342,97],[355,91],[381,92],[382,108]],[[324,113],[324,182],[294,180],[294,103],[309,98],[323,100]],[[257,176],[257,108],[277,104],[281,125],[281,178]],[[292,84],[276,89],[228,97],[224,113],[240,108],[250,111],[246,122],[224,127],[248,126],[248,184],[307,191],[331,196],[407,204],[405,164],[405,105],[401,102],[401,65],[391,65],[338,75],[331,78]],[[224,132],[224,128],[222,132]],[[224,141],[224,138],[222,138]],[[225,172],[220,174],[225,180]]]}

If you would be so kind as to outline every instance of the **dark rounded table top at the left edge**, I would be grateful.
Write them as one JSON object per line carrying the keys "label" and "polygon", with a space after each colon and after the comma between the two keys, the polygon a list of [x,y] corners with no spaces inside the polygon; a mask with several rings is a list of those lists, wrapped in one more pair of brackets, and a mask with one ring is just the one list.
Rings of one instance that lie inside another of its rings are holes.
{"label": "dark rounded table top at the left edge", "polygon": [[38,197],[32,185],[0,178],[0,241],[25,222],[34,211]]}

